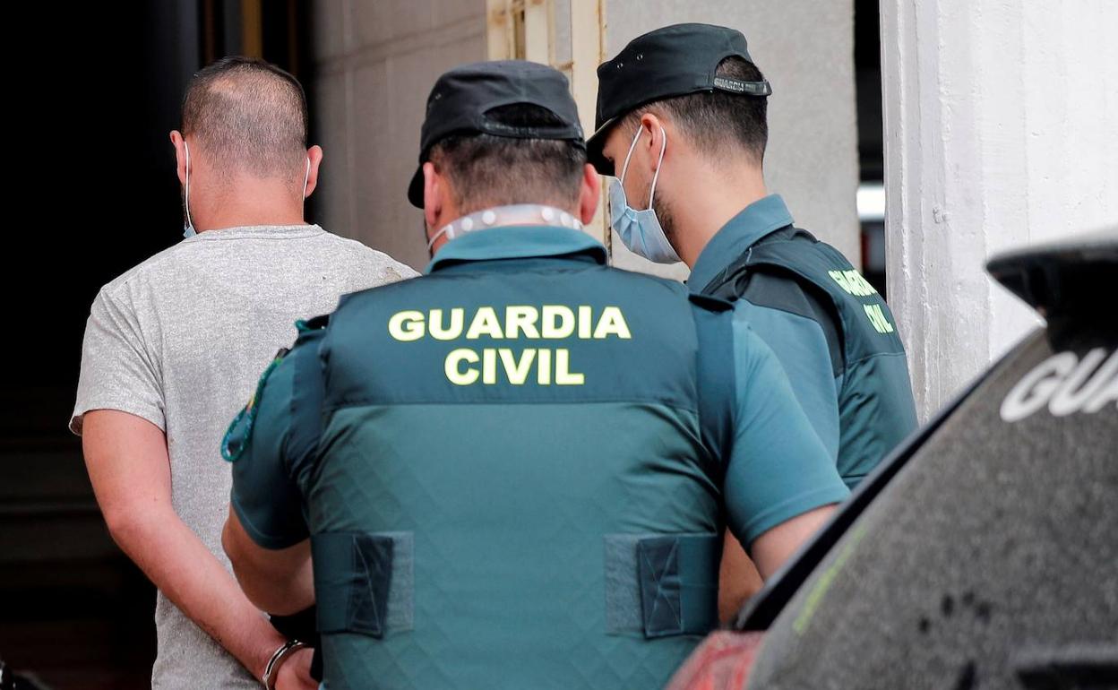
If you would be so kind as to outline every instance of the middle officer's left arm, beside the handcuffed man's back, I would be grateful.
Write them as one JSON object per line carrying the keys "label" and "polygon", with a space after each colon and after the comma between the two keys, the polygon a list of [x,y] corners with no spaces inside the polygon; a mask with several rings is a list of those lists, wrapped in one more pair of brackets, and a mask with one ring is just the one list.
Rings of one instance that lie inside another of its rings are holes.
{"label": "middle officer's left arm, beside the handcuffed man's back", "polygon": [[[303,342],[273,363],[222,442],[222,454],[233,462],[233,493],[221,545],[248,598],[280,615],[314,603],[309,531],[295,480],[305,459],[292,457],[307,447],[294,438],[301,433],[301,414],[293,406],[295,375],[301,365],[313,369],[314,358],[313,343]],[[305,391],[300,395],[305,403]]]}

